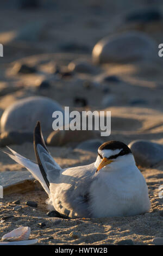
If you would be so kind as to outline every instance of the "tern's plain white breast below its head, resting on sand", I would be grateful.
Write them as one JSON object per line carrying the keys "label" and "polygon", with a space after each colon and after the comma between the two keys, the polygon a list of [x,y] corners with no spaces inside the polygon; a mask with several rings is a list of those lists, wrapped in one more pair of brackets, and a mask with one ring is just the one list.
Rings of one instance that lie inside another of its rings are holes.
{"label": "tern's plain white breast below its head, resting on sand", "polygon": [[90,192],[92,217],[132,216],[150,209],[146,181],[136,166],[98,173]]}

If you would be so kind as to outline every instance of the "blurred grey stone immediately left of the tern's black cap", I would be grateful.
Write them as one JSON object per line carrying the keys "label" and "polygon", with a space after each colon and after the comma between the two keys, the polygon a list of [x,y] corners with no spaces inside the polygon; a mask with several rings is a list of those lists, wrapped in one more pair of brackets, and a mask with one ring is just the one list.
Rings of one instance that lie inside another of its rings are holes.
{"label": "blurred grey stone immediately left of the tern's black cap", "polygon": [[103,144],[101,139],[89,139],[80,143],[76,149],[82,149],[85,151],[91,151],[93,153],[97,153],[98,148]]}

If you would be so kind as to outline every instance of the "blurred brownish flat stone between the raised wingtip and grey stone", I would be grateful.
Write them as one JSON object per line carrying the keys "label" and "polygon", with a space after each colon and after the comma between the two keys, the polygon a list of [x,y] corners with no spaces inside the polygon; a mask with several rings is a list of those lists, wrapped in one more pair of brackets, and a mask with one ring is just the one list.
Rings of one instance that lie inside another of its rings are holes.
{"label": "blurred brownish flat stone between the raised wingtip and grey stone", "polygon": [[97,133],[94,131],[78,131],[78,130],[58,130],[53,131],[47,138],[47,145],[49,146],[63,146],[68,143],[82,142],[86,139],[97,138]]}

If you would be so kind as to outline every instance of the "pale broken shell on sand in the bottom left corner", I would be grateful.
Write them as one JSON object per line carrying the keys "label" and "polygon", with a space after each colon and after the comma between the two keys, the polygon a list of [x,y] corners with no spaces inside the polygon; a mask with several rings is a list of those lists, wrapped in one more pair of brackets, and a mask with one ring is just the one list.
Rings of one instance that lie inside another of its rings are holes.
{"label": "pale broken shell on sand in the bottom left corner", "polygon": [[2,236],[2,241],[28,240],[30,235],[29,227],[19,227]]}

